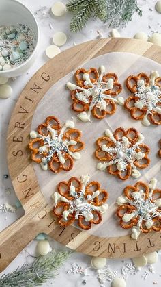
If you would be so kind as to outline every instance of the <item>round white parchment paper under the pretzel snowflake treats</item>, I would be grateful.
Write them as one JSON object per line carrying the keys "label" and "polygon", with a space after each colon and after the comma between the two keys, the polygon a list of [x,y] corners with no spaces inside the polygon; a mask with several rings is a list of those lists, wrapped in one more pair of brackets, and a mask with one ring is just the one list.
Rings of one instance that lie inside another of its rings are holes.
{"label": "round white parchment paper under the pretzel snowflake treats", "polygon": [[[66,64],[66,63],[65,63]],[[106,72],[114,72],[119,77],[119,82],[124,83],[124,80],[128,75],[137,75],[138,73],[145,72],[149,75],[151,70],[157,70],[161,75],[161,65],[149,60],[148,58],[141,57],[140,55],[134,55],[132,53],[108,53],[101,55],[98,58],[89,60],[83,67],[85,68],[99,68],[100,65],[104,65]],[[79,67],[78,67],[79,68]],[[44,95],[43,99],[38,104],[33,116],[32,129],[36,129],[40,123],[44,122],[47,116],[56,116],[59,118],[61,125],[67,119],[72,117],[76,128],[81,129],[83,132],[83,141],[85,142],[85,149],[81,151],[81,160],[74,161],[74,168],[72,171],[62,171],[59,174],[54,174],[50,170],[43,171],[40,164],[34,163],[35,173],[38,177],[40,189],[46,201],[53,206],[53,200],[51,195],[57,190],[57,184],[62,180],[68,180],[72,176],[80,177],[81,175],[89,174],[91,180],[96,180],[101,183],[102,188],[106,189],[109,193],[109,209],[102,216],[102,223],[99,225],[93,225],[88,231],[90,234],[100,237],[111,237],[121,236],[130,233],[130,230],[122,229],[119,226],[119,219],[115,215],[117,205],[115,201],[119,195],[122,194],[123,188],[131,184],[134,185],[136,182],[143,180],[148,181],[153,177],[158,179],[157,187],[161,188],[161,176],[160,176],[160,163],[161,160],[158,158],[158,140],[161,138],[160,126],[150,125],[145,127],[141,124],[141,121],[135,121],[130,117],[130,112],[125,110],[123,107],[117,105],[117,111],[112,116],[106,116],[103,120],[96,120],[91,116],[92,123],[83,123],[77,118],[78,113],[74,112],[71,108],[72,100],[70,98],[70,91],[65,88],[67,82],[75,84],[74,72],[69,73],[63,79],[59,80],[53,85],[50,90]],[[123,84],[123,91],[119,96],[125,97],[130,95],[130,92],[126,89]],[[141,177],[121,181],[109,175],[106,171],[98,171],[96,164],[98,160],[94,157],[93,153],[96,149],[95,142],[98,138],[103,136],[105,129],[111,129],[114,131],[117,127],[135,127],[139,132],[145,136],[144,142],[151,148],[149,158],[151,164],[147,169],[140,170]],[[78,227],[78,226],[77,226]]]}

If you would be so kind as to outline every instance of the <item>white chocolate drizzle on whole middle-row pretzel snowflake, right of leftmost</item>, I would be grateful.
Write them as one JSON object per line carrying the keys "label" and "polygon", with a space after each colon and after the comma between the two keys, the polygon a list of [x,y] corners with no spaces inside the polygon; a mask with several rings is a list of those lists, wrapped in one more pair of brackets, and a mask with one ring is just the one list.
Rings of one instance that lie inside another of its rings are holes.
{"label": "white chocolate drizzle on whole middle-row pretzel snowflake, right of leftmost", "polygon": [[106,167],[116,164],[118,171],[126,171],[128,164],[132,166],[132,177],[138,178],[141,176],[141,173],[136,169],[134,162],[136,160],[142,160],[145,156],[145,153],[141,151],[139,145],[144,140],[143,134],[138,134],[138,141],[136,144],[132,145],[126,136],[123,136],[121,140],[116,140],[109,129],[106,129],[104,132],[108,138],[110,138],[114,146],[107,147],[105,144],[102,145],[102,151],[111,155],[112,160],[106,162],[99,162],[96,165],[96,169],[104,171]]}

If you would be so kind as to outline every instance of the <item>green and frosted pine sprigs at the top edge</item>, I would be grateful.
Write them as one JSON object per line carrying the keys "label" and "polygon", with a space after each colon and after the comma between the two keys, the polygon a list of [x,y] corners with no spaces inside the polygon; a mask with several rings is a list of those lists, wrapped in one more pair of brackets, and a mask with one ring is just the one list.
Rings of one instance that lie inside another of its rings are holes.
{"label": "green and frosted pine sprigs at the top edge", "polygon": [[69,0],[67,9],[74,12],[71,32],[83,29],[91,17],[108,22],[109,27],[124,27],[134,12],[142,16],[137,0]]}

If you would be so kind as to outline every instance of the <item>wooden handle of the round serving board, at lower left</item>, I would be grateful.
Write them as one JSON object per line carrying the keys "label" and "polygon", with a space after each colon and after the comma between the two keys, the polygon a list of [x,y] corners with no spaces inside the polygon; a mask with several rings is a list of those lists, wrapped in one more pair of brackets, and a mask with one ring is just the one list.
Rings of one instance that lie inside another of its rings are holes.
{"label": "wooden handle of the round serving board, at lower left", "polygon": [[0,272],[41,232],[33,216],[25,214],[0,233]]}

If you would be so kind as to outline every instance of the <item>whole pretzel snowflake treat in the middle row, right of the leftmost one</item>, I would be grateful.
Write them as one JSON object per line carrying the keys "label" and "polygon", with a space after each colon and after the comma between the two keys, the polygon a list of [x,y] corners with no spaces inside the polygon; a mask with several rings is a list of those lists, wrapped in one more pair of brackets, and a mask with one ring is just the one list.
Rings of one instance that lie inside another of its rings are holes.
{"label": "whole pretzel snowflake treat in the middle row, right of the leftmost one", "polygon": [[101,161],[96,168],[100,171],[107,168],[108,173],[122,180],[128,179],[130,175],[140,177],[138,169],[145,169],[150,163],[147,156],[150,149],[143,143],[143,134],[139,134],[134,127],[127,130],[119,127],[113,134],[106,129],[104,134],[96,141],[95,155]]}

